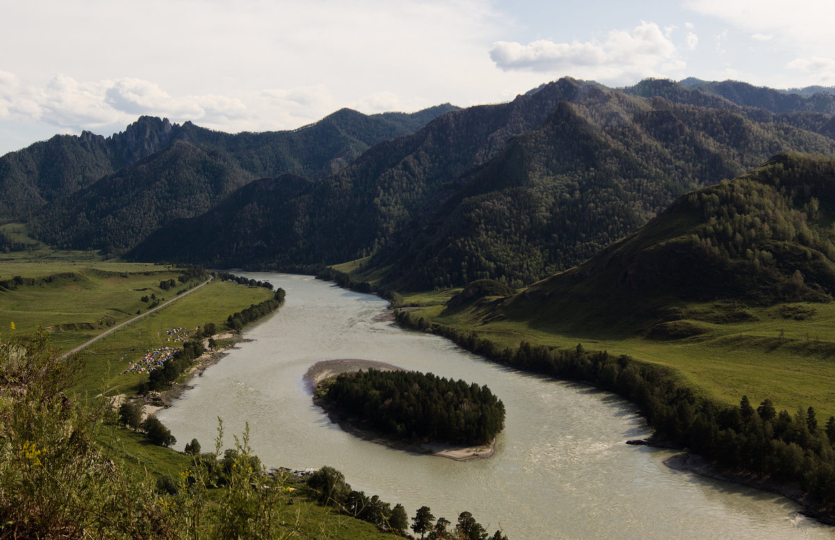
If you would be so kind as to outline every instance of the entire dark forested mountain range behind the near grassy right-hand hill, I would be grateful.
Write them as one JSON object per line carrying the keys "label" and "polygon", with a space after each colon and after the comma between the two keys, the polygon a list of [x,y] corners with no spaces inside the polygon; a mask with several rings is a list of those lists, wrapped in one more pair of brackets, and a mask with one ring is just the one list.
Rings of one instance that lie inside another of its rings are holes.
{"label": "entire dark forested mountain range behind the near grassy right-hand hill", "polygon": [[0,158],[6,220],[134,260],[254,270],[367,258],[384,285],[514,286],[579,265],[693,189],[835,154],[835,95],[563,78],[509,103],[348,109],[290,132],[143,117]]}

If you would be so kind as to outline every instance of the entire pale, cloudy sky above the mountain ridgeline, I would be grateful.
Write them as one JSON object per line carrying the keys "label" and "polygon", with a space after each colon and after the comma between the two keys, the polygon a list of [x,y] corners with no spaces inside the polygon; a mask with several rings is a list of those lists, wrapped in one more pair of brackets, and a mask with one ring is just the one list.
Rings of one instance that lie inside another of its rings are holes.
{"label": "entire pale, cloudy sky above the mountain ridgeline", "polygon": [[833,20],[832,0],[0,0],[0,154],[143,114],[295,129],[564,76],[835,86]]}

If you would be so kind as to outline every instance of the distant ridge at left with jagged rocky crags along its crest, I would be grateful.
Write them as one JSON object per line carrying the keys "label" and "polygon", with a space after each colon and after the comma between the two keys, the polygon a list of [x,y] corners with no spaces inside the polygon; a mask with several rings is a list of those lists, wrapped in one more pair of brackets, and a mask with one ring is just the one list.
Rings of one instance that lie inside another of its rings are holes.
{"label": "distant ridge at left with jagged rocky crags along its crest", "polygon": [[234,163],[248,179],[284,173],[321,178],[373,144],[411,134],[453,109],[445,104],[414,114],[370,116],[342,109],[300,129],[236,135],[144,116],[107,138],[89,132],[55,135],[0,157],[0,189],[5,195],[0,218],[27,218],[43,204],[87,188],[177,140]]}

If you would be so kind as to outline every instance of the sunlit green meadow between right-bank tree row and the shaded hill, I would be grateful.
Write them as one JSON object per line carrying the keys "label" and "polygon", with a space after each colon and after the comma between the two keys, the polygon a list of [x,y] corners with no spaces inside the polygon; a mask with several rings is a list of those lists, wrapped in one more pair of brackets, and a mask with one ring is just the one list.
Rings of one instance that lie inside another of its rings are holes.
{"label": "sunlit green meadow between right-bank tree row and the shaded hill", "polygon": [[515,348],[529,341],[568,348],[582,343],[589,350],[670,366],[696,390],[726,403],[737,404],[745,394],[755,406],[768,397],[777,410],[793,413],[798,406],[811,405],[818,416],[835,415],[835,304],[747,307],[751,320],[721,324],[710,320],[720,319],[726,306],[687,305],[684,322],[704,333],[661,341],[645,336],[605,339],[599,333],[559,333],[510,320],[483,324],[473,310],[442,315],[443,305],[430,305],[427,295],[404,295],[404,300],[428,305],[417,310],[417,315],[477,331],[501,346]]}

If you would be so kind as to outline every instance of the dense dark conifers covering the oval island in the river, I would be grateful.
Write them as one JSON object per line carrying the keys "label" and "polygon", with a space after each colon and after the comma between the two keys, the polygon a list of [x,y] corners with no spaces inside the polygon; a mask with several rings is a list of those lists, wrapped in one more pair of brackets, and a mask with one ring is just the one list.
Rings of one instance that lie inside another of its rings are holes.
{"label": "dense dark conifers covering the oval island in the river", "polygon": [[487,445],[504,427],[504,403],[486,385],[432,373],[341,373],[316,385],[314,396],[353,425],[404,442]]}

